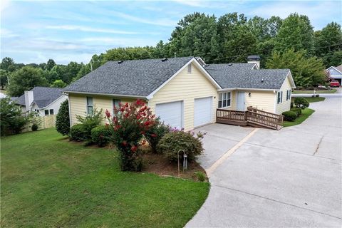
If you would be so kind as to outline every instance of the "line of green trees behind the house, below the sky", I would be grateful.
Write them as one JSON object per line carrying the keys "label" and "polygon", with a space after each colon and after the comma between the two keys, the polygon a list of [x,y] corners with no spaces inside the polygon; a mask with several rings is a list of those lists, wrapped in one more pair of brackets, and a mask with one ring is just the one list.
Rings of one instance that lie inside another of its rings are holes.
{"label": "line of green trees behind the house, below the sky", "polygon": [[245,62],[252,54],[261,56],[262,68],[290,68],[297,86],[317,86],[326,79],[325,68],[342,63],[341,25],[331,22],[314,31],[309,18],[299,14],[247,19],[237,13],[217,18],[195,12],[178,22],[167,43],[112,48],[86,64],[61,65],[50,59],[24,65],[6,57],[0,63],[0,81],[17,96],[33,86],[62,88],[107,61],[201,56],[206,63],[234,63]]}

